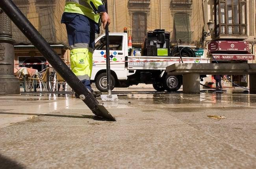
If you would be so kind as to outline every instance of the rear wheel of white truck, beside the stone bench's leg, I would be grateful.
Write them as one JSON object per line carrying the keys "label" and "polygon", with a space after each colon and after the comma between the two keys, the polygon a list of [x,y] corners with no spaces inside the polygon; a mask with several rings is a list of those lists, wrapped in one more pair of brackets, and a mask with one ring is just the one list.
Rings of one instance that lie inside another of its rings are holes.
{"label": "rear wheel of white truck, beside the stone bench's leg", "polygon": [[163,78],[163,87],[167,91],[177,91],[180,89],[181,86],[181,80],[177,76],[173,75],[166,75]]}

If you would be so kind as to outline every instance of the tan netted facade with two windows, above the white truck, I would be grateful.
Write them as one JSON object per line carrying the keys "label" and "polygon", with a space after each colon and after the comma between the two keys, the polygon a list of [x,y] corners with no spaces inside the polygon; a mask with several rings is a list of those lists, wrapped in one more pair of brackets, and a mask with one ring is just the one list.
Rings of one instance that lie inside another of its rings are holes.
{"label": "tan netted facade with two windows, above the white truck", "polygon": [[204,10],[200,0],[109,0],[110,31],[127,27],[133,45],[140,46],[147,31],[165,29],[172,44],[202,44]]}

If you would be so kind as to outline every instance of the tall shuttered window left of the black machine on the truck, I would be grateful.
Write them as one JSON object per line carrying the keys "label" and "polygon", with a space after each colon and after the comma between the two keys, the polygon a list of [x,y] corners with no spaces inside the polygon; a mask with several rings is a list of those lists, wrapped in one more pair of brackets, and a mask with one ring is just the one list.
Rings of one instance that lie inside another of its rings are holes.
{"label": "tall shuttered window left of the black machine on the truck", "polygon": [[147,14],[135,12],[132,14],[132,41],[141,43],[147,33]]}

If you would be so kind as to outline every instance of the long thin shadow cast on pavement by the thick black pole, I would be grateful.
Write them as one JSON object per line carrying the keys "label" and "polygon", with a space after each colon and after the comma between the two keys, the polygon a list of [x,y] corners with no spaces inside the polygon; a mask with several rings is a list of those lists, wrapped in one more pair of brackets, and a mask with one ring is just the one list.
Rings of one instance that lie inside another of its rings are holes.
{"label": "long thin shadow cast on pavement by the thick black pole", "polygon": [[31,116],[53,116],[53,117],[68,117],[68,118],[89,118],[98,121],[109,121],[105,118],[101,118],[93,115],[81,115],[81,116],[72,116],[72,115],[60,115],[60,114],[36,114],[36,113],[8,113],[8,112],[0,112],[0,114],[18,114],[18,115],[31,115]]}

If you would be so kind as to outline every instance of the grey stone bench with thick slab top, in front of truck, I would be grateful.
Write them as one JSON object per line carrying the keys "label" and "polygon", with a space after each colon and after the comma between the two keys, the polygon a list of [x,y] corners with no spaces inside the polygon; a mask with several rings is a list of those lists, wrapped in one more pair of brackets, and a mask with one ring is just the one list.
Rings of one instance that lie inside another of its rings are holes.
{"label": "grey stone bench with thick slab top, in front of truck", "polygon": [[200,93],[200,75],[250,75],[250,93],[256,94],[256,64],[173,64],[168,75],[183,75],[183,92]]}

